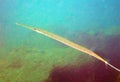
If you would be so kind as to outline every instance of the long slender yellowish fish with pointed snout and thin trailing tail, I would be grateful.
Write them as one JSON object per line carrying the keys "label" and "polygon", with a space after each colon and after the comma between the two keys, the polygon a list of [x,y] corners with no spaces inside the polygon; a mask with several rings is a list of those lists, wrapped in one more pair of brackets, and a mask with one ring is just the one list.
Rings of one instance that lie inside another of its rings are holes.
{"label": "long slender yellowish fish with pointed snout and thin trailing tail", "polygon": [[45,30],[43,30],[43,29],[38,29],[38,28],[35,28],[35,27],[32,27],[32,26],[28,26],[28,25],[25,25],[25,24],[21,24],[21,23],[16,23],[16,25],[21,26],[21,27],[28,28],[28,29],[30,29],[30,30],[33,30],[33,31],[39,33],[39,34],[43,34],[43,35],[45,35],[45,36],[47,36],[47,37],[49,37],[49,38],[52,38],[52,39],[54,39],[54,40],[56,40],[56,41],[59,41],[59,42],[65,44],[65,45],[67,45],[67,46],[70,46],[70,47],[72,47],[72,48],[74,48],[74,49],[76,49],[76,50],[79,50],[79,51],[84,52],[84,53],[86,53],[86,54],[88,54],[88,55],[91,55],[91,56],[95,57],[96,59],[104,62],[105,64],[107,64],[107,65],[110,66],[111,68],[113,68],[113,69],[117,70],[118,72],[120,72],[120,69],[116,68],[115,66],[113,66],[112,64],[110,64],[109,62],[107,62],[104,58],[100,57],[100,56],[99,56],[98,54],[96,54],[95,52],[93,52],[93,51],[91,51],[91,50],[89,50],[89,49],[87,49],[87,48],[85,48],[85,47],[83,47],[83,46],[81,46],[81,45],[78,45],[78,44],[76,44],[76,43],[73,43],[72,41],[69,41],[69,40],[67,40],[67,39],[65,39],[65,38],[63,38],[63,37],[61,37],[61,36],[58,36],[58,35],[53,34],[53,33],[50,33],[50,32],[45,31]]}

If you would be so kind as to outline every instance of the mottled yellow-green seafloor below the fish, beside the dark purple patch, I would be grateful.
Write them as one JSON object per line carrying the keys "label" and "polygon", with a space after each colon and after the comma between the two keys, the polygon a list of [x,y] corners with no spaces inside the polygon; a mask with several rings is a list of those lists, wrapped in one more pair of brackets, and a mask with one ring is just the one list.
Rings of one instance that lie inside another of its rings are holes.
{"label": "mottled yellow-green seafloor below the fish, beside the dark purple patch", "polygon": [[92,59],[59,47],[42,50],[21,46],[8,52],[1,49],[0,54],[0,82],[42,82],[55,66],[81,65]]}

